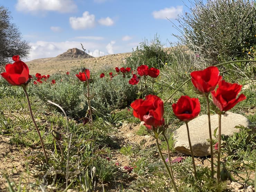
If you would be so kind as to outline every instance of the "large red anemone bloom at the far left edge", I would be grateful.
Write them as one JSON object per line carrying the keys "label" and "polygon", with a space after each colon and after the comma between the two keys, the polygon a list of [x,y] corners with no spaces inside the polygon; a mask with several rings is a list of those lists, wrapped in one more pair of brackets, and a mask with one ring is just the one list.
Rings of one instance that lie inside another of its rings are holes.
{"label": "large red anemone bloom at the far left edge", "polygon": [[11,85],[26,85],[29,79],[29,70],[26,63],[19,60],[19,56],[13,56],[13,64],[5,66],[6,72],[1,73],[2,77]]}

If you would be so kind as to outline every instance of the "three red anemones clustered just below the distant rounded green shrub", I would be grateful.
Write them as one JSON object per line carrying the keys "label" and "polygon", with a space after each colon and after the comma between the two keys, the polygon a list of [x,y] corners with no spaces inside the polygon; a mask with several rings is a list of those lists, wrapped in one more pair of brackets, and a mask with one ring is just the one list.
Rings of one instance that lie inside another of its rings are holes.
{"label": "three red anemones clustered just below the distant rounded green shrub", "polygon": [[147,65],[140,65],[139,67],[137,67],[137,74],[132,74],[132,78],[129,80],[129,84],[131,85],[136,85],[139,82],[139,78],[137,75],[139,76],[150,76],[153,78],[158,77],[160,71],[157,68],[151,67],[148,68]]}

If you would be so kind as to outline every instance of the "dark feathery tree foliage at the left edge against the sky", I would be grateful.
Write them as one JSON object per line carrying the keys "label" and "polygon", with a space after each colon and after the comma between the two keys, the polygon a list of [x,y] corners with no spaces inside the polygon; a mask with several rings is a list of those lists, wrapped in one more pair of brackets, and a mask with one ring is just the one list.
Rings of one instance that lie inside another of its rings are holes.
{"label": "dark feathery tree foliage at the left edge against the sky", "polygon": [[28,42],[21,40],[21,33],[15,24],[10,22],[11,13],[0,6],[0,65],[6,64],[13,55],[26,57],[29,54]]}

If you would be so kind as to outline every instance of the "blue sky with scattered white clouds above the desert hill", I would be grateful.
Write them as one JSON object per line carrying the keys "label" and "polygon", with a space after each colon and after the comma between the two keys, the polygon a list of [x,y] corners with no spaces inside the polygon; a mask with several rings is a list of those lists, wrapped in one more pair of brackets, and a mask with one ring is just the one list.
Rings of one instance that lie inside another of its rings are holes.
{"label": "blue sky with scattered white clouds above the desert hill", "polygon": [[[189,5],[188,1],[184,1]],[[28,58],[55,57],[69,48],[92,56],[131,52],[157,34],[162,44],[177,42],[173,24],[187,9],[174,0],[0,0],[31,45]]]}

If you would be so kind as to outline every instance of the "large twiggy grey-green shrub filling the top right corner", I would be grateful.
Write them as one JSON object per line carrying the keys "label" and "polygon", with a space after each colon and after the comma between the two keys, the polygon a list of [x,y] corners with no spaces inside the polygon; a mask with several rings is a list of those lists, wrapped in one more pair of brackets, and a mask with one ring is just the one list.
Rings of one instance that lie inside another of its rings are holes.
{"label": "large twiggy grey-green shrub filling the top right corner", "polygon": [[[180,16],[177,36],[182,43],[212,62],[248,58],[256,44],[255,3],[247,0],[201,0]],[[243,53],[244,51],[244,53]]]}

